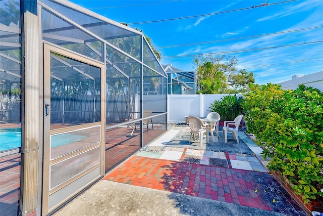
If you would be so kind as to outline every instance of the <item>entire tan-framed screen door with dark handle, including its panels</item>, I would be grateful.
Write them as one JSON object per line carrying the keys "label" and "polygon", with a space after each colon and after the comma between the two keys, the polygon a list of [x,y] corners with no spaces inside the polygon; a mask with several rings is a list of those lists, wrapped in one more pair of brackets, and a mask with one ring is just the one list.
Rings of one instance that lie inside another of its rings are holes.
{"label": "entire tan-framed screen door with dark handle, including its panels", "polygon": [[103,69],[44,44],[43,214],[104,175]]}

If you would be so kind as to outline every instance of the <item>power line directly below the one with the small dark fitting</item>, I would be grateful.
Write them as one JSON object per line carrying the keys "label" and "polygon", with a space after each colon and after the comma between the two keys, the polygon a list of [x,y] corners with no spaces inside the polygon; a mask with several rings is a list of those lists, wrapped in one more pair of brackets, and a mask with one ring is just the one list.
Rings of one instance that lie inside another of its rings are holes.
{"label": "power line directly below the one with the small dark fitting", "polygon": [[173,47],[183,47],[183,46],[192,46],[192,45],[200,45],[200,44],[212,44],[212,43],[216,43],[216,42],[224,42],[224,41],[230,41],[230,40],[240,40],[240,39],[247,39],[247,38],[252,38],[252,37],[268,36],[268,35],[274,35],[274,34],[284,34],[284,33],[290,33],[290,32],[295,32],[295,31],[304,31],[304,30],[310,30],[310,29],[322,28],[322,27],[323,26],[317,26],[317,27],[303,28],[303,29],[290,30],[290,31],[282,31],[282,32],[276,32],[276,33],[259,34],[259,35],[253,35],[253,36],[245,36],[245,37],[237,37],[237,38],[222,39],[222,40],[213,40],[213,41],[205,41],[205,42],[196,42],[196,43],[192,43],[192,44],[170,45],[170,46],[164,46],[164,47],[155,47],[155,49],[173,48]]}

